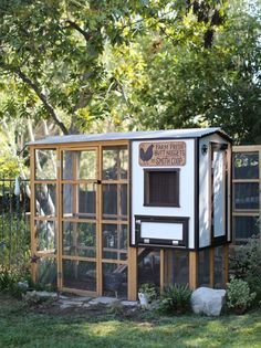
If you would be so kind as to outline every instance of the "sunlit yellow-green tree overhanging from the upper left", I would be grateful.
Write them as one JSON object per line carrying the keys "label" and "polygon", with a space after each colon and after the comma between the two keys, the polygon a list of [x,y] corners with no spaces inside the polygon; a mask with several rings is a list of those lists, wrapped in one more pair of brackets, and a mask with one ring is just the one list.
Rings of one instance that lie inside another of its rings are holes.
{"label": "sunlit yellow-green tree overhanging from the upper left", "polygon": [[[128,45],[148,31],[177,42],[200,36],[210,46],[226,2],[3,0],[0,71],[14,92],[8,102],[19,117],[51,118],[63,134],[77,133],[111,115],[106,101],[121,86],[107,78],[106,48]],[[126,102],[122,87],[121,96]]]}

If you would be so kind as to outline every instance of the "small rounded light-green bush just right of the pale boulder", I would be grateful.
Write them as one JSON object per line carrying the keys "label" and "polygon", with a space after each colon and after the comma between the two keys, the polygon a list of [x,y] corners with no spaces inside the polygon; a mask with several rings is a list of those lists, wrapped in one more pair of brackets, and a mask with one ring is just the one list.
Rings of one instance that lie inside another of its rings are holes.
{"label": "small rounded light-green bush just right of the pale boulder", "polygon": [[231,276],[227,283],[227,306],[238,314],[242,314],[251,306],[255,293],[250,293],[250,287],[247,282]]}

